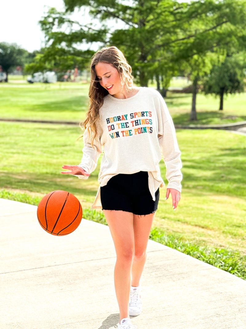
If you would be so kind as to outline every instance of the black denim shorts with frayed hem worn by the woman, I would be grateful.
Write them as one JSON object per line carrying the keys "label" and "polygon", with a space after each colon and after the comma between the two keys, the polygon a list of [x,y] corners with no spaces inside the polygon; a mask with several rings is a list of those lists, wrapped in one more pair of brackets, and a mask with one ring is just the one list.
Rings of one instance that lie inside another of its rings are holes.
{"label": "black denim shorts with frayed hem worn by the woman", "polygon": [[148,185],[148,171],[134,174],[117,174],[107,185],[100,188],[101,204],[104,210],[123,210],[136,215],[148,215],[157,210],[159,188],[155,201]]}

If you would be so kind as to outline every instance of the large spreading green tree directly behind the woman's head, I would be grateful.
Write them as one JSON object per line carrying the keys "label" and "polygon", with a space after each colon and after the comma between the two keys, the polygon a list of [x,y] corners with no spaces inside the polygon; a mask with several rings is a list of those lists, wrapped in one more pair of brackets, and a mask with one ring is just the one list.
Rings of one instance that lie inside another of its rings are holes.
{"label": "large spreading green tree directly behind the woman's head", "polygon": [[[197,50],[200,53],[209,51],[211,43],[207,44],[203,39],[206,39],[208,34],[213,34],[218,26],[227,23],[224,17],[217,17],[221,8],[217,1],[212,0],[207,0],[206,5],[204,2],[188,4],[172,0],[138,0],[133,1],[131,6],[120,1],[107,2],[107,6],[100,0],[64,2],[64,13],[51,8],[40,21],[46,35],[47,51],[44,61],[54,56],[59,58],[59,53],[66,54],[65,56],[70,54],[71,58],[74,58],[76,45],[82,42],[99,41],[102,46],[113,44],[120,48],[129,60],[136,83],[148,86],[148,81],[154,77],[157,80],[157,88],[160,88],[160,82],[162,83],[163,94],[180,65],[179,48],[190,57]],[[90,15],[100,21],[101,25],[97,24],[97,28],[92,27],[92,23],[83,25],[68,17],[75,8],[86,6],[90,8]],[[125,27],[109,28],[109,19],[121,20]],[[212,37],[208,39],[214,41]],[[186,49],[191,45],[194,48],[192,53]],[[88,62],[91,53],[94,52],[84,51],[83,57]]]}

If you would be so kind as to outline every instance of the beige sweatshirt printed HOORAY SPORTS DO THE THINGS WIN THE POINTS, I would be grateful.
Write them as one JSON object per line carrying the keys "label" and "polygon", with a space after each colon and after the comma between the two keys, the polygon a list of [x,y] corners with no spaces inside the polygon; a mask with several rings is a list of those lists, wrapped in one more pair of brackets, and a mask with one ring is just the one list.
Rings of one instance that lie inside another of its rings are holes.
{"label": "beige sweatshirt printed HOORAY SPORTS DO THE THINGS WIN THE POINTS", "polygon": [[[165,185],[159,162],[166,165],[167,188],[181,192],[182,163],[172,117],[161,94],[149,87],[140,87],[132,97],[115,98],[108,94],[99,110],[98,141],[92,148],[88,129],[84,132],[83,156],[79,164],[85,171],[95,170],[101,153],[99,187],[93,208],[102,209],[100,187],[111,177],[148,171],[148,184],[153,200],[158,187]],[[74,175],[81,179],[88,176]]]}

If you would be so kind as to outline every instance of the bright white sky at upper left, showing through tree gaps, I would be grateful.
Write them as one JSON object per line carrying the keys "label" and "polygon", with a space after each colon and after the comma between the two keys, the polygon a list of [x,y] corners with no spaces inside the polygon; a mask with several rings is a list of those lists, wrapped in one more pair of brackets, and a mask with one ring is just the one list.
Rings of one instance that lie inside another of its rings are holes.
{"label": "bright white sky at upper left, showing through tree gaps", "polygon": [[[129,3],[130,0],[122,1]],[[182,0],[182,2],[187,2]],[[57,10],[64,10],[63,0],[21,0],[21,1],[4,1],[1,3],[0,18],[0,42],[17,43],[21,48],[32,52],[39,50],[44,46],[44,34],[41,31],[38,21],[48,11],[48,7],[55,7]],[[87,10],[88,11],[88,10]],[[83,20],[82,20],[83,17]],[[86,20],[86,17],[88,19]],[[84,10],[76,10],[71,18],[83,23],[89,22],[89,16]],[[93,20],[94,21],[94,20]],[[112,27],[123,28],[124,23],[112,21]],[[97,50],[100,45],[93,43],[89,46],[84,44],[81,49]]]}

